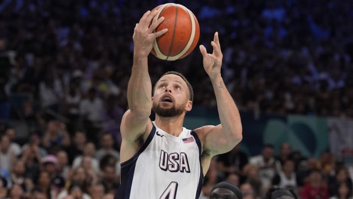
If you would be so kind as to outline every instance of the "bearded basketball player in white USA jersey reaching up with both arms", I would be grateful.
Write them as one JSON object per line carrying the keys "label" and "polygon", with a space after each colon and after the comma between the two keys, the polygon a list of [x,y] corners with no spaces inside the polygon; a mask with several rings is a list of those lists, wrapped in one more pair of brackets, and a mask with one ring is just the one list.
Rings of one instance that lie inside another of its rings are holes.
{"label": "bearded basketball player in white USA jersey reaching up with both arms", "polygon": [[[239,111],[221,77],[222,52],[218,33],[213,53],[200,46],[203,67],[217,98],[221,124],[194,130],[183,127],[193,103],[193,90],[183,75],[168,72],[153,87],[147,57],[153,40],[156,12],[146,12],[133,34],[134,54],[127,86],[129,110],[121,123],[121,185],[116,199],[198,199],[212,156],[231,150],[242,139]],[[150,26],[151,24],[151,26]],[[150,26],[150,28],[149,28]],[[155,120],[151,121],[151,109]]]}

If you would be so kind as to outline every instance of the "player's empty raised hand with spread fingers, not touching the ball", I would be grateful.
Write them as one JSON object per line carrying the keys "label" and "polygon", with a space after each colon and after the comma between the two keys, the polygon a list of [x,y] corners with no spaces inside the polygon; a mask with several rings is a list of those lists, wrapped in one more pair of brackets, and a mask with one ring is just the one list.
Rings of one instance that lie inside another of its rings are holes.
{"label": "player's empty raised hand with spread fingers, not touching the ball", "polygon": [[218,39],[218,32],[214,34],[213,41],[211,41],[213,46],[212,54],[207,53],[206,48],[203,45],[200,45],[200,51],[203,57],[203,68],[205,69],[207,75],[211,80],[217,78],[221,75],[221,66],[222,66],[222,51],[221,45]]}

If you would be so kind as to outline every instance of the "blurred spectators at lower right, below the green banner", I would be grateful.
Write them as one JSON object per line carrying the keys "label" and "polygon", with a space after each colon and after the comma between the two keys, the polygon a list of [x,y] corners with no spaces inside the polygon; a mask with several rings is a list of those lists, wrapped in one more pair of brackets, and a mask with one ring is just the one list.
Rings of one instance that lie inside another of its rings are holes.
{"label": "blurred spectators at lower right, below the green banner", "polygon": [[299,199],[352,199],[353,167],[329,151],[318,159],[303,157],[284,142],[275,156],[265,144],[261,154],[249,157],[240,149],[212,158],[200,199],[209,199],[212,187],[229,181],[240,188],[243,199],[263,199],[270,188],[293,190]]}

